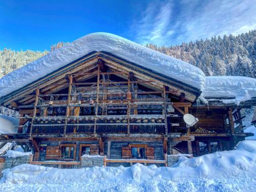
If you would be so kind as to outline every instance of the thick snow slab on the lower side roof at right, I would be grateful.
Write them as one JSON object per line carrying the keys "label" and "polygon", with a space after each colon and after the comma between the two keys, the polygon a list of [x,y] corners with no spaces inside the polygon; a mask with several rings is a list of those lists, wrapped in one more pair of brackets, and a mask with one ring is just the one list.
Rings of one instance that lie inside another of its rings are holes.
{"label": "thick snow slab on the lower side roof at right", "polygon": [[240,76],[207,76],[203,97],[234,97],[223,99],[226,103],[239,104],[256,97],[256,79]]}

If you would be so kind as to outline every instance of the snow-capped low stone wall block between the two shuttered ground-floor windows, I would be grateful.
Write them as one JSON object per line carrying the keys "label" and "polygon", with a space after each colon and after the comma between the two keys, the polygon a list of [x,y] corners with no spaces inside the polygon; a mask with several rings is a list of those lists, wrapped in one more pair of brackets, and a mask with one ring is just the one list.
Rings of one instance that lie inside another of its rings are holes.
{"label": "snow-capped low stone wall block between the two shuttered ground-floor windows", "polygon": [[102,166],[104,161],[104,156],[99,155],[86,155],[81,157],[81,167],[93,167]]}

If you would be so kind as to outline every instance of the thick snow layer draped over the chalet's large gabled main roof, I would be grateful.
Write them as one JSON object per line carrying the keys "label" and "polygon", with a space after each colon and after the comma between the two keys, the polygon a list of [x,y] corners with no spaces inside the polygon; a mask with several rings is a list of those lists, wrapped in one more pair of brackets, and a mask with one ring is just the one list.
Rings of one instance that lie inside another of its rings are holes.
{"label": "thick snow layer draped over the chalet's large gabled main roof", "polygon": [[187,62],[148,49],[117,35],[92,33],[4,76],[0,79],[0,97],[22,88],[93,51],[112,53],[200,90],[204,86],[204,73]]}

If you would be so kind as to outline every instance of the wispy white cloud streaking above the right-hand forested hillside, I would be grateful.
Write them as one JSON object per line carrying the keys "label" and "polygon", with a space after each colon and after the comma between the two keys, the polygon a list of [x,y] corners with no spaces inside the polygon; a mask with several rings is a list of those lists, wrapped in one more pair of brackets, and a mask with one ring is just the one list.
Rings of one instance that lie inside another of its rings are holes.
{"label": "wispy white cloud streaking above the right-hand forested hillside", "polygon": [[256,28],[255,0],[151,2],[131,27],[140,44],[180,44]]}

